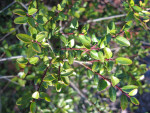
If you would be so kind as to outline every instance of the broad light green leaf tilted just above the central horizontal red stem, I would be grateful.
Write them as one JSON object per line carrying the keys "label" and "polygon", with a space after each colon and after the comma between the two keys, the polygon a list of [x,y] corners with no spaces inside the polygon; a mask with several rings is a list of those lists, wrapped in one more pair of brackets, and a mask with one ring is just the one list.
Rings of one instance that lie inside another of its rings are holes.
{"label": "broad light green leaf tilted just above the central horizontal red stem", "polygon": [[84,36],[84,35],[79,35],[79,39],[80,42],[86,47],[86,48],[90,48],[90,44],[91,44],[91,39],[88,36]]}

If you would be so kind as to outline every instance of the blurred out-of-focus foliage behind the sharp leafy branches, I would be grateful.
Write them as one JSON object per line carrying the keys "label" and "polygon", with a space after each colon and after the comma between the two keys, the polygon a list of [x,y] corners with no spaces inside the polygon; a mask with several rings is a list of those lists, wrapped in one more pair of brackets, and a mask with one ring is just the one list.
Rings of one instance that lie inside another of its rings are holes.
{"label": "blurred out-of-focus foliage behind the sharp leafy branches", "polygon": [[[75,8],[70,12],[70,15],[75,15],[79,19],[79,29],[82,29],[82,26],[85,21],[90,19],[97,19],[102,17],[108,17],[112,15],[119,15],[127,13],[127,4],[124,0],[70,0],[70,6],[68,10],[73,8],[73,5],[78,5],[78,8]],[[144,0],[143,0],[144,1]],[[16,15],[12,13],[14,9],[21,8],[26,10],[24,6],[28,6],[28,0],[16,0],[13,5],[11,5],[6,10],[3,10],[8,4],[14,2],[13,0],[1,0],[0,1],[0,58],[25,55],[25,46],[23,42],[19,41],[16,38],[16,33],[27,33],[28,25],[16,25],[14,24],[14,19]],[[61,0],[40,0],[38,2],[39,9],[42,9],[45,12],[45,15],[50,14],[50,10],[55,10],[57,4]],[[139,3],[138,0],[135,0],[135,3]],[[147,8],[150,8],[150,2],[147,3]],[[42,11],[41,10],[41,11]],[[70,20],[70,18],[68,18]],[[90,28],[88,33],[95,34],[98,38],[105,36],[108,23],[114,21],[117,26],[117,31],[123,27],[126,22],[124,17],[114,18],[110,20],[103,20],[100,22],[90,23]],[[59,24],[59,23],[57,23]],[[150,27],[150,21],[147,23],[147,26]],[[66,27],[64,32],[71,32],[70,29]],[[111,48],[114,48],[115,55],[129,57],[133,60],[134,66],[117,67],[116,76],[118,78],[124,78],[126,83],[135,82],[133,81],[132,76],[141,77],[149,69],[150,57],[149,47],[150,47],[150,32],[149,30],[144,30],[142,26],[139,26],[137,23],[133,23],[132,28],[129,30],[130,43],[131,47],[121,47],[118,51],[115,48],[118,48],[113,41],[111,41]],[[57,40],[54,39],[51,41],[53,46],[57,45]],[[134,61],[135,60],[135,61]],[[74,64],[75,76],[70,77],[72,85],[64,86],[61,92],[56,92],[54,87],[49,87],[47,90],[43,88],[43,91],[46,91],[51,97],[51,102],[43,102],[41,100],[37,101],[37,113],[90,113],[90,112],[121,112],[119,106],[119,98],[115,103],[112,103],[108,98],[108,92],[106,91],[97,91],[96,84],[96,75],[94,77],[87,76],[87,70],[84,67],[79,67],[79,65]],[[30,71],[34,70],[34,67],[30,66]],[[123,69],[122,69],[123,68]],[[125,73],[126,71],[130,73]],[[138,70],[138,71],[137,71]],[[16,60],[10,60],[5,62],[0,62],[0,77],[2,76],[13,76],[12,78],[1,78],[0,79],[0,112],[1,113],[27,113],[29,103],[25,102],[24,106],[17,106],[16,101],[22,95],[28,95],[34,91],[33,76],[29,76],[27,80],[19,78],[19,72],[23,71],[20,68]],[[32,73],[36,75],[36,73]],[[16,76],[16,77],[15,77]],[[105,75],[110,76],[108,75]],[[150,112],[150,103],[145,104],[146,100],[143,100],[143,94],[147,94],[147,100],[150,100],[149,96],[149,80],[150,74],[147,72],[145,78],[139,83],[139,92],[136,97],[139,99],[141,105],[134,106],[129,105],[126,112],[137,112],[144,113]],[[73,87],[75,85],[75,87]],[[75,88],[80,89],[75,90]],[[119,96],[119,92],[117,93]],[[147,102],[147,101],[146,101]],[[94,111],[93,111],[94,109]]]}

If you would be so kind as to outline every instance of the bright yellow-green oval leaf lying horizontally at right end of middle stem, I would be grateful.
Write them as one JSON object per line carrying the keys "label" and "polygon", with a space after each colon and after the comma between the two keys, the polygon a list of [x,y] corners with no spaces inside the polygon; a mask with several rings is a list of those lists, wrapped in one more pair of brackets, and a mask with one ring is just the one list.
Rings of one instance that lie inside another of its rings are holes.
{"label": "bright yellow-green oval leaf lying horizontally at right end of middle stem", "polygon": [[128,58],[118,57],[116,58],[116,62],[121,65],[130,65],[132,64],[132,60]]}

